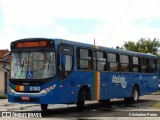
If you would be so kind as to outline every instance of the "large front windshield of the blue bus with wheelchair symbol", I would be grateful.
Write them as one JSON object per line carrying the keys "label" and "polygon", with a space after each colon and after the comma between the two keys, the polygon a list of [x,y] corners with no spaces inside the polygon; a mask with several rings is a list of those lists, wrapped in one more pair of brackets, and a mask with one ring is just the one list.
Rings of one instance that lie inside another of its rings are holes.
{"label": "large front windshield of the blue bus with wheelchair symbol", "polygon": [[55,52],[12,52],[11,79],[45,79],[56,74]]}

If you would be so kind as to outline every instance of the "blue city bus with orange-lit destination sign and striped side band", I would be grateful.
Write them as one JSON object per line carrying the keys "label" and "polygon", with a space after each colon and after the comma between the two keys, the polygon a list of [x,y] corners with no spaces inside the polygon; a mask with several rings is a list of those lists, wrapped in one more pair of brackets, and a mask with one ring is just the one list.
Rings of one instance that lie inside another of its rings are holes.
{"label": "blue city bus with orange-lit destination sign and striped side band", "polygon": [[138,102],[158,91],[155,55],[64,39],[27,38],[11,42],[8,101],[22,104]]}

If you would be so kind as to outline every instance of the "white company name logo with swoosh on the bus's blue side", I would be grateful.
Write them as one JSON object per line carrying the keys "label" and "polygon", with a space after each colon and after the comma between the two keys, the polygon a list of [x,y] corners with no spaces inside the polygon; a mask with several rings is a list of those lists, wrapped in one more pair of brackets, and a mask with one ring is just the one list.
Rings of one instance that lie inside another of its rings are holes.
{"label": "white company name logo with swoosh on the bus's blue side", "polygon": [[122,88],[126,88],[126,86],[127,86],[126,78],[123,77],[123,75],[122,75],[122,77],[121,76],[116,77],[113,75],[112,83],[119,83],[119,84],[121,84]]}

